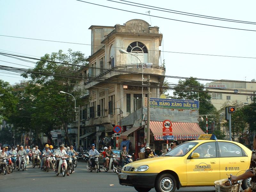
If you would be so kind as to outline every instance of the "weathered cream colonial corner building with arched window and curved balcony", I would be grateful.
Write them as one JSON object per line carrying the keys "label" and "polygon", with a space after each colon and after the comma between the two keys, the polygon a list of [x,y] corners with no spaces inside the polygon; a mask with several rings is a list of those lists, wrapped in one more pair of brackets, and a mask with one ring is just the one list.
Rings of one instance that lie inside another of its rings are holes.
{"label": "weathered cream colonial corner building with arched window and curved balcony", "polygon": [[163,35],[157,26],[150,27],[139,19],[124,25],[92,25],[89,29],[89,68],[81,71],[89,102],[81,108],[84,124],[80,138],[84,146],[95,143],[100,147],[103,143],[113,145],[113,127],[141,108],[142,98],[147,97],[148,74],[153,86],[151,97],[159,98],[165,75],[165,68],[159,64]]}

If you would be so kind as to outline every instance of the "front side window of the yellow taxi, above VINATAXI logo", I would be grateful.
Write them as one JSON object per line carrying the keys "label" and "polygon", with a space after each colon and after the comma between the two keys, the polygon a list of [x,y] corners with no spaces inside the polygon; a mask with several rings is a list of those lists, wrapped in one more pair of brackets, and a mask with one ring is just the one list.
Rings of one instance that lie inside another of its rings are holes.
{"label": "front side window of the yellow taxi, above VINATAXI logo", "polygon": [[216,157],[216,145],[215,142],[204,143],[198,146],[194,153],[199,153],[200,158]]}

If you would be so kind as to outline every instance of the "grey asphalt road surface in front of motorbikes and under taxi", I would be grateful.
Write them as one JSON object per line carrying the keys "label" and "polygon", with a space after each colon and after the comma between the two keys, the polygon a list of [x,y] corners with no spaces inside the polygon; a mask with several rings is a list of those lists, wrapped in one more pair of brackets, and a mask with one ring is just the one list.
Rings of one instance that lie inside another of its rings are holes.
{"label": "grey asphalt road surface in front of motorbikes and under taxi", "polygon": [[[31,164],[31,163],[30,163]],[[110,172],[89,172],[84,162],[78,162],[75,173],[71,176],[56,176],[53,171],[44,172],[38,168],[27,167],[28,171],[17,171],[12,174],[0,175],[0,192],[12,191],[73,191],[73,192],[135,192],[133,187],[122,186],[118,183],[117,174]],[[213,192],[214,187],[188,187],[176,190],[178,192],[200,191]],[[150,192],[156,192],[151,189]]]}

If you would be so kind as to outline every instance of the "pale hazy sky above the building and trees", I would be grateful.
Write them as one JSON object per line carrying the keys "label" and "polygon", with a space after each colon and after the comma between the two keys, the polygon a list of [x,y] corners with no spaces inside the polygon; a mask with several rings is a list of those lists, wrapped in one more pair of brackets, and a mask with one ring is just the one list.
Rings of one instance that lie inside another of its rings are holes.
{"label": "pale hazy sky above the building and trees", "polygon": [[[120,0],[115,1],[123,2]],[[254,0],[128,1],[180,12],[256,22],[256,1]],[[148,14],[146,12],[150,11],[151,16],[115,10],[76,0],[0,0],[0,35],[91,44],[91,30],[88,29],[91,25],[115,26],[116,24],[122,25],[131,19],[142,19],[151,24],[151,26],[158,26],[159,31],[163,34],[162,46],[159,49],[165,51],[161,55],[162,60],[165,60],[165,75],[241,81],[245,79],[246,81],[251,81],[256,78],[256,23],[248,24],[197,18],[124,5],[107,0],[87,0],[87,2],[143,14]],[[58,52],[60,49],[64,52],[72,49],[73,51],[83,52],[85,56],[91,55],[90,45],[45,42],[5,36],[0,36],[0,52],[17,52],[40,57],[45,53]],[[171,52],[254,57],[255,59]],[[8,61],[30,67],[34,66],[32,63],[2,55],[0,55],[0,60],[0,65],[23,68],[23,66],[4,62]],[[5,73],[6,71],[0,70],[0,79],[10,82],[10,84],[19,83],[22,80],[20,76]],[[168,78],[167,80],[169,83],[177,83],[179,79]],[[200,82],[205,84],[208,81]]]}

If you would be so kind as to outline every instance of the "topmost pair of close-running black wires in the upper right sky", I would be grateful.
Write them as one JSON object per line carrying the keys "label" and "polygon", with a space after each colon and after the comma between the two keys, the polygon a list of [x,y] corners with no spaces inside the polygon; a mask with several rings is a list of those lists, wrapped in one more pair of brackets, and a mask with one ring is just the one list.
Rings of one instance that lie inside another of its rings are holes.
{"label": "topmost pair of close-running black wires in the upper right sky", "polygon": [[[117,2],[117,1],[113,1],[113,0],[107,0],[107,1],[111,1],[111,2],[115,2],[115,3],[120,3],[120,4],[126,4],[126,5],[131,5],[131,6],[135,6],[135,7],[141,7],[141,8],[148,8],[148,7],[143,7],[143,6],[139,6],[139,5],[132,5],[132,4],[128,4],[128,3],[122,3],[122,2]],[[125,2],[128,2],[128,1],[125,1]],[[129,3],[133,3],[133,2],[129,2]],[[138,4],[138,3],[134,3],[134,4]],[[142,5],[142,4],[140,4]],[[144,5],[144,6],[148,6],[148,5]],[[149,6],[149,7],[153,7],[153,6]],[[212,19],[212,20],[220,20],[220,21],[228,21],[228,22],[236,22],[236,23],[244,23],[244,24],[252,24],[252,25],[255,25],[256,23],[255,22],[248,22],[248,21],[238,21],[238,20],[227,20],[227,19],[221,19],[221,18],[216,18],[216,17],[208,17],[208,16],[199,16],[197,14],[194,14],[194,15],[191,15],[191,13],[181,13],[181,12],[172,12],[173,10],[170,10],[170,11],[165,11],[166,9],[164,10],[159,10],[159,9],[155,9],[155,8],[149,8],[149,9],[152,9],[152,10],[156,10],[156,11],[162,11],[162,12],[169,12],[169,13],[175,13],[175,14],[180,14],[180,15],[187,15],[187,16],[191,16],[191,17],[199,17],[199,18],[204,18],[204,19]],[[163,8],[161,8],[163,9]]]}

